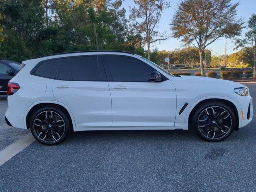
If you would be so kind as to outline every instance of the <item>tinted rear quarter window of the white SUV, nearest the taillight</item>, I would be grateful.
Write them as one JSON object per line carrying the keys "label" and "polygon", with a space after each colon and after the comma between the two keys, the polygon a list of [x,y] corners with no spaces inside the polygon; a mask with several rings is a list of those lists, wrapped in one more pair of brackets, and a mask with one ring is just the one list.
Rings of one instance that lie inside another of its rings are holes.
{"label": "tinted rear quarter window of the white SUV, nearest the taillight", "polygon": [[58,59],[42,62],[34,74],[47,78],[55,78],[58,62]]}

